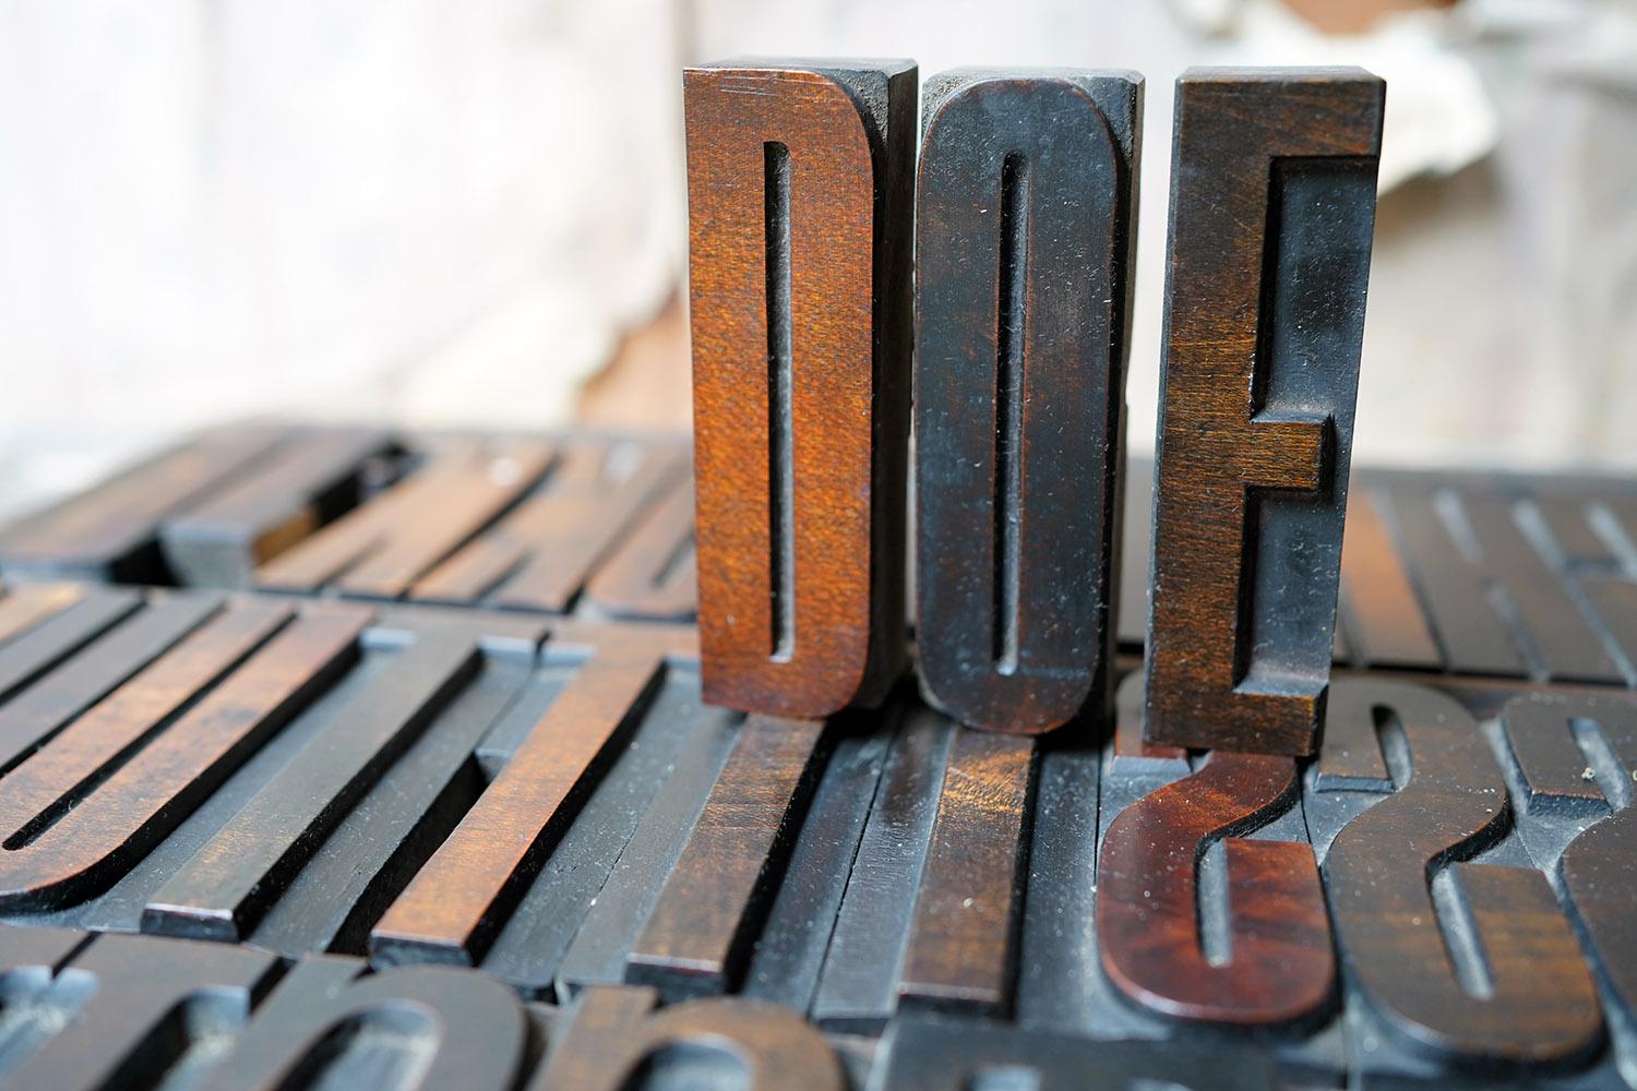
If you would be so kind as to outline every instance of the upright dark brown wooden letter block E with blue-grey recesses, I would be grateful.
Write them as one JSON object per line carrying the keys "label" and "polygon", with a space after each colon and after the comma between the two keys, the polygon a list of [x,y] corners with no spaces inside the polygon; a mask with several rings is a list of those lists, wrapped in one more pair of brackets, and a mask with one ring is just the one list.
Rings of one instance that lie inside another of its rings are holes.
{"label": "upright dark brown wooden letter block E with blue-grey recesses", "polygon": [[1383,83],[1177,82],[1144,731],[1313,754],[1329,679]]}

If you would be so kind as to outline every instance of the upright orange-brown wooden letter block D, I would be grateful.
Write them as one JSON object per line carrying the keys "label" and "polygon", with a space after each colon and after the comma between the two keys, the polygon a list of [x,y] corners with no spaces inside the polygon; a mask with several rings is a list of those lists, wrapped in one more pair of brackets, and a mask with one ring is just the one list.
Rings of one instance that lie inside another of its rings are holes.
{"label": "upright orange-brown wooden letter block D", "polygon": [[688,69],[706,698],[820,718],[904,662],[915,65]]}

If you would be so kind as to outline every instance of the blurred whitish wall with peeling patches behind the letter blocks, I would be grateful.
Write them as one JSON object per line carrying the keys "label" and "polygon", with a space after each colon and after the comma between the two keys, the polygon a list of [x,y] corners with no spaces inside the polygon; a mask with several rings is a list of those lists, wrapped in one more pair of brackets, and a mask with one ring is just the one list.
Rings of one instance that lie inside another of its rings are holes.
{"label": "blurred whitish wall with peeling patches behind the letter blocks", "polygon": [[679,69],[1388,80],[1357,460],[1637,466],[1634,0],[61,0],[0,8],[0,510],[200,424],[688,425]]}

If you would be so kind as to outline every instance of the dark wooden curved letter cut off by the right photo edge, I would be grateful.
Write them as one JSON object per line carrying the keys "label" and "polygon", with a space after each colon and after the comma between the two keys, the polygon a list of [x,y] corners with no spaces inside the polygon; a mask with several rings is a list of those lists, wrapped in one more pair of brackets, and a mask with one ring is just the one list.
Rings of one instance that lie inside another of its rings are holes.
{"label": "dark wooden curved letter cut off by the right photo edge", "polygon": [[[1637,1011],[1637,918],[1632,914],[1637,810],[1630,805],[1637,705],[1616,697],[1531,694],[1511,700],[1501,723],[1522,767],[1531,810],[1542,801],[1570,800],[1606,803],[1612,811],[1563,849],[1558,873],[1611,991],[1627,1012]],[[1593,733],[1594,739],[1576,743],[1576,728]],[[1586,749],[1591,749],[1591,761]]]}

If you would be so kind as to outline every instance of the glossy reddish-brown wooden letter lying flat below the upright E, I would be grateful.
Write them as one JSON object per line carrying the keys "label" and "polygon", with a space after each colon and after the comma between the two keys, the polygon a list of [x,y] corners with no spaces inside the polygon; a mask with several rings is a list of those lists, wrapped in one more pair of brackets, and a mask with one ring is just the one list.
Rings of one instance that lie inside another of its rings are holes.
{"label": "glossy reddish-brown wooden letter lying flat below the upright E", "polygon": [[[1298,798],[1297,765],[1218,751],[1190,777],[1120,813],[1097,869],[1103,970],[1133,1001],[1177,1019],[1288,1024],[1336,990],[1329,919],[1306,844],[1251,841]],[[1197,862],[1223,839],[1229,957],[1206,957]]]}

